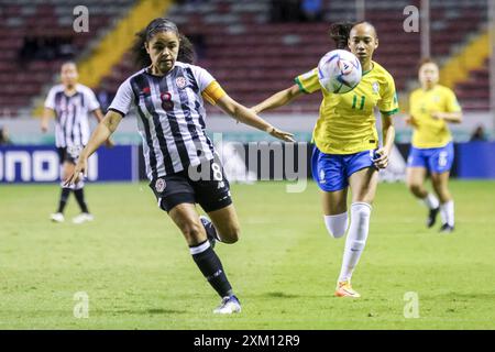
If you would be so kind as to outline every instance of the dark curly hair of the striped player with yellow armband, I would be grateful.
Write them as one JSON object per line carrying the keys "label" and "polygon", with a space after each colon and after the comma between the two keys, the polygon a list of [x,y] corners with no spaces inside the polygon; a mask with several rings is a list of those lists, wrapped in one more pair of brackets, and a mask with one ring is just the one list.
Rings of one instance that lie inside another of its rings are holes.
{"label": "dark curly hair of the striped player with yellow armband", "polygon": [[146,53],[146,47],[144,44],[150,42],[151,38],[161,31],[172,31],[177,34],[180,43],[177,61],[186,64],[193,64],[196,56],[193,43],[187,38],[187,36],[179,33],[177,25],[174,22],[164,18],[157,18],[151,21],[144,30],[135,34],[136,38],[131,50],[135,65],[140,68],[151,65],[151,58]]}

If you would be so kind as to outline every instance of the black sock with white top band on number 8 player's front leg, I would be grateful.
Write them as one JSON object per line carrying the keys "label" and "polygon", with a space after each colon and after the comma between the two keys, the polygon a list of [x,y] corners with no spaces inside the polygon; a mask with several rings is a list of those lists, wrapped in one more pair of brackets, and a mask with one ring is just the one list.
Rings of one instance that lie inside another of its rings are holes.
{"label": "black sock with white top band on number 8 player's front leg", "polygon": [[230,286],[222,263],[210,243],[205,241],[189,249],[196,265],[220,297],[232,296],[232,286]]}

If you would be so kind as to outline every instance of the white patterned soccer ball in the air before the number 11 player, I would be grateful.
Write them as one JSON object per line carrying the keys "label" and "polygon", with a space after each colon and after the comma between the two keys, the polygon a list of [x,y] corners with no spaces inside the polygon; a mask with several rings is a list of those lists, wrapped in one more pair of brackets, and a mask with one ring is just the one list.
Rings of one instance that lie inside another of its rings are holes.
{"label": "white patterned soccer ball in the air before the number 11 player", "polygon": [[351,52],[331,51],[318,63],[318,80],[328,92],[351,91],[359,85],[361,77],[361,63]]}

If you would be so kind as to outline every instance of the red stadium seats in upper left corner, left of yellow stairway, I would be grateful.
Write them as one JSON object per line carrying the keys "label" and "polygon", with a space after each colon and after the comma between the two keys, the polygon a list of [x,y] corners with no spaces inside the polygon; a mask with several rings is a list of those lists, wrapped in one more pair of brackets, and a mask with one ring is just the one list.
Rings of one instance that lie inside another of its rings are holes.
{"label": "red stadium seats in upper left corner, left of yellow stairway", "polygon": [[[102,4],[85,0],[89,32],[73,30],[75,0],[4,0],[0,7],[0,117],[29,114],[33,97],[54,82],[61,63],[86,53],[100,30],[112,24],[133,0]],[[31,38],[30,45],[26,43]],[[50,46],[54,41],[59,43]],[[65,44],[65,45],[64,45]],[[64,52],[65,50],[65,52]],[[65,53],[65,56],[62,55]]]}

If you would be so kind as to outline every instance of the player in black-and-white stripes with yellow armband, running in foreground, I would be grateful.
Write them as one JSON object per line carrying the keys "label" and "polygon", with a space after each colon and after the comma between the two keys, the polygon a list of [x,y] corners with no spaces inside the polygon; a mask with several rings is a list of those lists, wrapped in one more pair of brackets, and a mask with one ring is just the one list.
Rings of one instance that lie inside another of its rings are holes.
{"label": "player in black-and-white stripes with yellow armband, running in foreground", "polygon": [[[158,206],[180,229],[194,261],[222,297],[213,312],[239,312],[241,305],[210,244],[215,239],[237,242],[240,227],[229,183],[205,133],[205,100],[275,138],[294,140],[290,133],[275,129],[231,99],[207,70],[186,63],[190,62],[191,46],[173,22],[162,18],[153,20],[140,33],[134,48],[139,62],[147,67],[120,86],[67,183],[77,183],[79,174],[87,168],[88,157],[116,131],[131,107],[135,107],[146,174]],[[199,218],[196,202],[212,223]]]}

